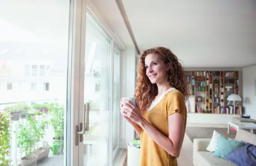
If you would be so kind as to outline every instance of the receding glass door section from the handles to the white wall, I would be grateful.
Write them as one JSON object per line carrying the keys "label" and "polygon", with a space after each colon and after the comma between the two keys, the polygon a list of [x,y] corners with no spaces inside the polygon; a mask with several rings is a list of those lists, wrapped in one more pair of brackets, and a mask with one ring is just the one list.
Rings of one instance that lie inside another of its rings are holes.
{"label": "receding glass door section from the handles to the white wall", "polygon": [[84,166],[112,166],[119,149],[120,49],[90,12],[86,16]]}

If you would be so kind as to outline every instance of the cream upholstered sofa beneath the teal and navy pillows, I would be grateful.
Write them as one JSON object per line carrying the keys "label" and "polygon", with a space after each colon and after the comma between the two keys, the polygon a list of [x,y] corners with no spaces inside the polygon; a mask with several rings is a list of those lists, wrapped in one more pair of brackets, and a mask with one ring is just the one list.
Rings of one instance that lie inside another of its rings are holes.
{"label": "cream upholstered sofa beneath the teal and navy pillows", "polygon": [[[244,141],[256,145],[256,134],[239,129],[234,140]],[[193,165],[194,166],[238,166],[235,163],[224,158],[213,156],[213,152],[207,151],[211,139],[193,140]]]}

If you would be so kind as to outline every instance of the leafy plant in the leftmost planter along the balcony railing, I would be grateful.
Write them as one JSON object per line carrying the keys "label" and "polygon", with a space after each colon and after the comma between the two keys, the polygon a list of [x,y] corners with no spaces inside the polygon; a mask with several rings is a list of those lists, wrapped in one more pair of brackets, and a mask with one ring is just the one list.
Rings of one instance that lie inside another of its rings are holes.
{"label": "leafy plant in the leftmost planter along the balcony railing", "polygon": [[20,117],[24,117],[30,107],[26,103],[17,103],[13,106],[7,107],[4,109],[5,112],[9,113],[12,117],[12,120],[19,120]]}

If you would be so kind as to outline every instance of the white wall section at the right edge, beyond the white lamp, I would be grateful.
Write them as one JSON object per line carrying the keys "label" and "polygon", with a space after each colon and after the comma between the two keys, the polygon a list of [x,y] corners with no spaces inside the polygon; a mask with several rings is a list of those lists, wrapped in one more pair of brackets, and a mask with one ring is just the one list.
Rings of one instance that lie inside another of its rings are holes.
{"label": "white wall section at the right edge, beyond the white lamp", "polygon": [[243,68],[243,106],[245,114],[256,120],[256,65]]}

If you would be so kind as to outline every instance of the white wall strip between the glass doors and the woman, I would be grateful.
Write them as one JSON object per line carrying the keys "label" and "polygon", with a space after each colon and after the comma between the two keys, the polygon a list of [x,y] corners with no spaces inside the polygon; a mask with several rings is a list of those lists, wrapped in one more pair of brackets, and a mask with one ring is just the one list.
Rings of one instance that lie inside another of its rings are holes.
{"label": "white wall strip between the glass doors and the woman", "polygon": [[[134,46],[127,46],[121,55],[120,97],[133,97],[136,86],[136,50]],[[127,148],[127,144],[134,138],[131,124],[120,116],[120,147]]]}

